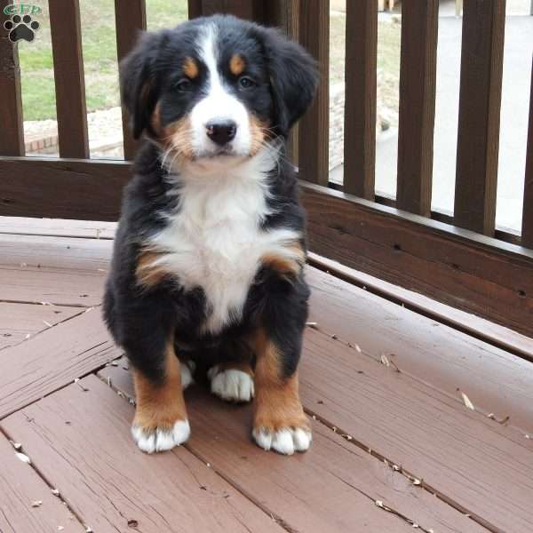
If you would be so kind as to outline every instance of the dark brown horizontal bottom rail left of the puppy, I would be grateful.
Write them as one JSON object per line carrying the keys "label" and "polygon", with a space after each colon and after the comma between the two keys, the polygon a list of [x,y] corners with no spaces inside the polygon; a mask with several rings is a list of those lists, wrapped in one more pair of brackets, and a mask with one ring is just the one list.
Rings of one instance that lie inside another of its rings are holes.
{"label": "dark brown horizontal bottom rail left of the puppy", "polygon": [[0,215],[116,220],[131,164],[0,157]]}

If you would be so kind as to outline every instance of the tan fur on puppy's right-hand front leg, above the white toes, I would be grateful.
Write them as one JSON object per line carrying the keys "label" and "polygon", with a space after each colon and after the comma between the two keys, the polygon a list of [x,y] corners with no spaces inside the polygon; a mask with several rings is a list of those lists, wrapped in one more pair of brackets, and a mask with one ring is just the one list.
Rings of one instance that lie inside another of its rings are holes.
{"label": "tan fur on puppy's right-hand front leg, above the white toes", "polygon": [[282,377],[279,349],[263,329],[255,335],[255,403],[253,426],[256,430],[278,431],[286,427],[310,430],[298,394],[298,371]]}

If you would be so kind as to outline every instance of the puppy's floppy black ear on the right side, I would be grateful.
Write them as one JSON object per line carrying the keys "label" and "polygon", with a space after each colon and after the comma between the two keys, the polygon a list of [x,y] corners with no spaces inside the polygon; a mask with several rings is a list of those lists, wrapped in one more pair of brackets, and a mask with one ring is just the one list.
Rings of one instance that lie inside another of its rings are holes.
{"label": "puppy's floppy black ear on the right side", "polygon": [[274,28],[265,28],[264,46],[277,122],[273,125],[287,135],[313,101],[318,83],[316,61]]}

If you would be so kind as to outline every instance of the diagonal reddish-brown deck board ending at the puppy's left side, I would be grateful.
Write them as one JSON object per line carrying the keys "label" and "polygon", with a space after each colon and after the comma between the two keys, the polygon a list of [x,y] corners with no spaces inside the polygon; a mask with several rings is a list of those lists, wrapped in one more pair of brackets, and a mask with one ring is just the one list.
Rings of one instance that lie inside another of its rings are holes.
{"label": "diagonal reddish-brown deck board ending at the puppy's left side", "polygon": [[121,354],[101,310],[92,309],[0,356],[0,418],[98,369]]}

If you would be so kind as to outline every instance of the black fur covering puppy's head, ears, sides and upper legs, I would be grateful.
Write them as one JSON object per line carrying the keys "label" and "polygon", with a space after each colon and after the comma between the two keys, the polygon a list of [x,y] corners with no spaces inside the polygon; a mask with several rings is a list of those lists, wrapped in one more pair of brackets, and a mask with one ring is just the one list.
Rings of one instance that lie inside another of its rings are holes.
{"label": "black fur covering puppy's head, ears, sides and upper legs", "polygon": [[[235,17],[212,17],[223,43],[221,54],[241,53],[257,81],[253,91],[239,91],[232,74],[223,73],[247,108],[271,124],[272,135],[285,138],[290,126],[305,112],[314,96],[314,60],[298,44],[286,41],[276,30],[262,28]],[[205,19],[178,28],[143,36],[121,65],[123,102],[131,116],[135,137],[143,131],[154,138],[151,116],[159,103],[161,123],[186,115],[202,92],[180,93],[176,84],[183,77],[180,66],[187,57],[196,59],[195,38]],[[202,66],[193,84],[203,83]],[[235,77],[235,76],[234,76]],[[251,285],[243,318],[228,324],[219,334],[201,332],[209,306],[201,288],[183,290],[175,280],[163,281],[147,290],[139,287],[135,269],[139,250],[147,236],[165,224],[158,213],[176,209],[178,198],[165,195],[172,187],[165,181],[162,149],[145,141],[134,163],[134,176],[123,194],[114,257],[107,280],[105,317],[116,342],[131,363],[148,378],[163,378],[163,350],[171,331],[177,353],[194,359],[203,368],[245,355],[243,338],[263,327],[282,354],[283,373],[290,376],[298,365],[302,332],[306,323],[309,290],[303,274],[287,280],[268,267],[261,267]],[[174,186],[175,187],[175,186]],[[276,214],[264,227],[288,227],[305,235],[305,217],[298,202],[298,184],[284,151],[279,167],[270,177],[269,202]],[[171,199],[169,199],[171,198]],[[179,273],[178,273],[179,274]]]}

